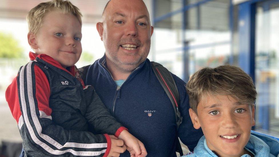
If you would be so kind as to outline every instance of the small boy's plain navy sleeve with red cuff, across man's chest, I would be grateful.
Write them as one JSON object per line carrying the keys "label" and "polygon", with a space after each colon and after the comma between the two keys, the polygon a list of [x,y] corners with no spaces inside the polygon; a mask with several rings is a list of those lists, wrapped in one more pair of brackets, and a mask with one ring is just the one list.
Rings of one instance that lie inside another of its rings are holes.
{"label": "small boy's plain navy sleeve with red cuff, across man's chest", "polygon": [[111,116],[92,86],[87,86],[84,92],[87,104],[85,118],[94,132],[118,137],[123,130],[127,130]]}

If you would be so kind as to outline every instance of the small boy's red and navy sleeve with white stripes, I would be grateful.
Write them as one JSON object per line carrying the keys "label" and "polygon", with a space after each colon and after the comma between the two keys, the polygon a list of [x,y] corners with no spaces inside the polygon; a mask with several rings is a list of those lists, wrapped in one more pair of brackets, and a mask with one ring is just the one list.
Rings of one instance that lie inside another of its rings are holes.
{"label": "small boy's red and navy sleeve with white stripes", "polygon": [[23,66],[6,91],[25,153],[31,156],[107,156],[111,146],[107,134],[65,130],[53,124],[49,82],[35,63],[31,61]]}

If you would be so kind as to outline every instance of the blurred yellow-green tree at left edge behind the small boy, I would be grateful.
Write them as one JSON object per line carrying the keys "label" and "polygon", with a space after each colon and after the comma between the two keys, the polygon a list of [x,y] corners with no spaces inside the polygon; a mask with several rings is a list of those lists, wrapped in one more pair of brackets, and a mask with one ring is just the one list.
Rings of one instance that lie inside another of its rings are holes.
{"label": "blurred yellow-green tree at left edge behind the small boy", "polygon": [[23,57],[23,48],[18,41],[10,34],[0,32],[0,58]]}

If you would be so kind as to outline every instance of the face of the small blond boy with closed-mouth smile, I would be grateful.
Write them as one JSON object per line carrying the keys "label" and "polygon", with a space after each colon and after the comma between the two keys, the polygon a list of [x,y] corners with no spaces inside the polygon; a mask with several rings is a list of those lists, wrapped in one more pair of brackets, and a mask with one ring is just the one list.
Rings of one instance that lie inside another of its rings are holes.
{"label": "face of the small blond boy with closed-mouth smile", "polygon": [[51,11],[43,19],[43,25],[35,35],[37,54],[47,54],[62,67],[74,65],[81,55],[81,24],[77,18],[62,11]]}

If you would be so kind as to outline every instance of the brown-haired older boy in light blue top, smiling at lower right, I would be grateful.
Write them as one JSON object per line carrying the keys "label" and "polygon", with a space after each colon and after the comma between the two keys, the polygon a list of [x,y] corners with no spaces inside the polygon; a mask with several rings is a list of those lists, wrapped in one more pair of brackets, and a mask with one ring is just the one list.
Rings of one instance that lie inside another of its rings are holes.
{"label": "brown-haired older boy in light blue top, smiling at lower right", "polygon": [[[266,143],[251,135],[257,92],[251,77],[240,68],[222,65],[201,69],[192,75],[186,88],[192,123],[204,133],[194,152],[186,157],[278,156],[278,140],[261,136],[269,141]],[[270,150],[270,146],[277,150]]]}

